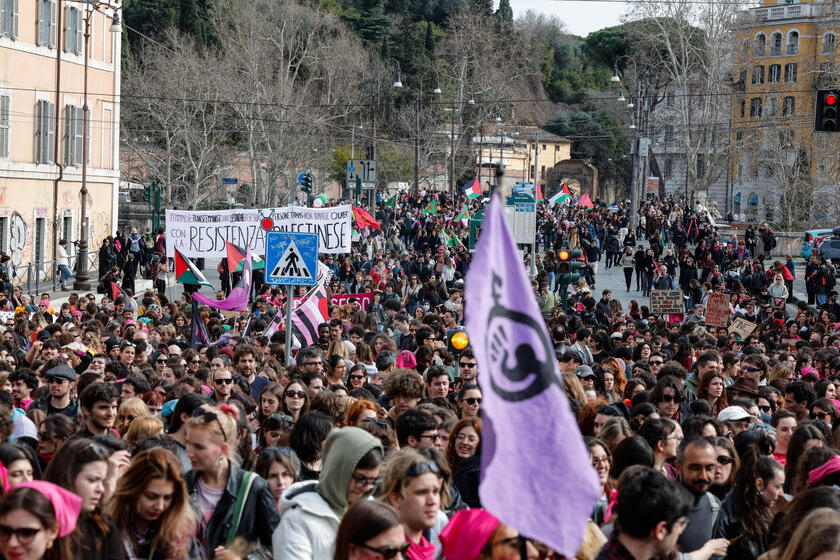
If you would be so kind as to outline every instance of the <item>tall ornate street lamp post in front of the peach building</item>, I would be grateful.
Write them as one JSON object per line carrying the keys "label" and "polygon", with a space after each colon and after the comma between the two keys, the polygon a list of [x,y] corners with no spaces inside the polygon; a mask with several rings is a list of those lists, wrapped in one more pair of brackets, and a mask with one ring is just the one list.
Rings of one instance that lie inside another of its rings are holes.
{"label": "tall ornate street lamp post in front of the peach building", "polygon": [[111,8],[114,10],[114,15],[111,16],[111,33],[122,32],[120,25],[119,0],[113,3],[109,0],[84,0],[85,7],[85,44],[84,44],[84,84],[83,84],[83,103],[82,103],[82,189],[79,194],[82,197],[82,224],[81,224],[81,239],[79,240],[79,253],[76,256],[76,280],[74,288],[79,291],[87,291],[91,289],[90,275],[88,270],[88,237],[90,236],[88,228],[87,215],[87,160],[88,160],[88,116],[90,115],[90,107],[87,101],[87,75],[88,75],[88,58],[90,57],[90,22],[93,14],[99,11],[100,8]]}

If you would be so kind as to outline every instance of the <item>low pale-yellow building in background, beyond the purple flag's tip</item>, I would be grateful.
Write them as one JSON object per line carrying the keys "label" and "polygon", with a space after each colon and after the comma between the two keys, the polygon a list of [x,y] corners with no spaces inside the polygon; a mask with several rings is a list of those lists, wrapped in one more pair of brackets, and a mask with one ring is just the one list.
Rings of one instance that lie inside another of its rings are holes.
{"label": "low pale-yellow building in background, beyond the purple flag's tip", "polygon": [[[571,140],[535,126],[485,126],[479,136],[473,138],[473,145],[478,147],[476,165],[480,166],[482,183],[495,182],[494,166],[503,161],[509,180],[533,182],[535,172],[539,171],[540,183],[544,184],[547,170],[572,157]],[[539,165],[538,170],[535,164]]]}

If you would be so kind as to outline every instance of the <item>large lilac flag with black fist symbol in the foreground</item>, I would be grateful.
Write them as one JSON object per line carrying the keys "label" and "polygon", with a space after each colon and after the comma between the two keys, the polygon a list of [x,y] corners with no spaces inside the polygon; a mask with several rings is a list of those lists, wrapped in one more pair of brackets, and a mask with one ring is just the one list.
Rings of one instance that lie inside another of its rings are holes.
{"label": "large lilac flag with black fist symbol in the foreground", "polygon": [[499,196],[484,215],[465,295],[484,396],[482,506],[573,558],[601,488]]}

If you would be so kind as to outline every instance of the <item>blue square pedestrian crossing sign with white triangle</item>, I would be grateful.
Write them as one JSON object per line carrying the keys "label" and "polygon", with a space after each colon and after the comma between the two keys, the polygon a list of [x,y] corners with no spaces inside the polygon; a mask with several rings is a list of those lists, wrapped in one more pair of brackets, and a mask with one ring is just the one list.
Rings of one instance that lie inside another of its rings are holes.
{"label": "blue square pedestrian crossing sign with white triangle", "polygon": [[314,286],[318,276],[318,234],[269,231],[265,239],[267,284]]}

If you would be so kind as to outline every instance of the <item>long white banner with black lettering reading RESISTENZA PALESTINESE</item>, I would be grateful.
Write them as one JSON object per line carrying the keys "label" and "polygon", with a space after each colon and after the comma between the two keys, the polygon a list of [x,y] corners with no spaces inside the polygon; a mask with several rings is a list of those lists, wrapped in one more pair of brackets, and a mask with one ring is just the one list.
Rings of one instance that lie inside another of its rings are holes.
{"label": "long white banner with black lettering reading RESISTENZA PALESTINESE", "polygon": [[349,204],[329,208],[287,206],[260,210],[234,208],[192,212],[166,211],[166,254],[175,256],[177,248],[190,258],[226,257],[225,241],[254,254],[265,256],[262,223],[279,231],[318,234],[319,253],[349,253],[352,232],[352,207]]}

